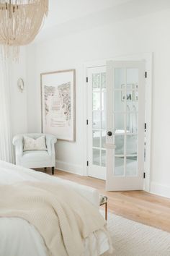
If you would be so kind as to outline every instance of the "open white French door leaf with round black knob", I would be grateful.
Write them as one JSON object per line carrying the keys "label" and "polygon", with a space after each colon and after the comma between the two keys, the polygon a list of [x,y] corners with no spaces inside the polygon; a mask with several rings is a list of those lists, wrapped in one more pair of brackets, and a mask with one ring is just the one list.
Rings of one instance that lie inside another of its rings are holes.
{"label": "open white French door leaf with round black knob", "polygon": [[143,61],[107,61],[106,189],[143,189]]}

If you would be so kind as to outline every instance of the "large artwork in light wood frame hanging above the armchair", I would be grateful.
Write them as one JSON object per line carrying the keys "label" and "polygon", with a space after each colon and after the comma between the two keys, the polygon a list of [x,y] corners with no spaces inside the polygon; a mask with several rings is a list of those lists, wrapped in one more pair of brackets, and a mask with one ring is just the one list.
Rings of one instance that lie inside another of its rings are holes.
{"label": "large artwork in light wood frame hanging above the armchair", "polygon": [[41,75],[42,132],[59,140],[75,141],[76,70],[61,70]]}

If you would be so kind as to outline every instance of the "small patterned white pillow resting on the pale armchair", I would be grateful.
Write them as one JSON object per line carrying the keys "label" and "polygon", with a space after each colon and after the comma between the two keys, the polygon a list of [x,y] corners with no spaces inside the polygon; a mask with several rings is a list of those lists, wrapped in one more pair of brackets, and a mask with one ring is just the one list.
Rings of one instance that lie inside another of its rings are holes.
{"label": "small patterned white pillow resting on the pale armchair", "polygon": [[45,145],[45,135],[42,135],[37,139],[24,136],[24,151],[28,150],[47,150]]}

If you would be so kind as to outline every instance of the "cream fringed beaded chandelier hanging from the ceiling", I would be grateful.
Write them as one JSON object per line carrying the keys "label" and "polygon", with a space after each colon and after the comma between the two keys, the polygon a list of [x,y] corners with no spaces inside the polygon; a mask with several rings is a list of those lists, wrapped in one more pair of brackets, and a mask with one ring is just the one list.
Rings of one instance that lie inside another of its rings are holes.
{"label": "cream fringed beaded chandelier hanging from the ceiling", "polygon": [[45,16],[48,0],[0,0],[0,44],[4,57],[19,57],[19,46],[35,39]]}

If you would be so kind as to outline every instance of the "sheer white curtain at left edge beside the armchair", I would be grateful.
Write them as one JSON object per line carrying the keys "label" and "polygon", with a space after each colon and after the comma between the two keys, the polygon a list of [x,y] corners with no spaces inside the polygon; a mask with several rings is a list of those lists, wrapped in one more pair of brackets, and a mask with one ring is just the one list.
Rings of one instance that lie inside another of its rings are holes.
{"label": "sheer white curtain at left edge beside the armchair", "polygon": [[8,67],[0,59],[0,160],[13,162]]}

